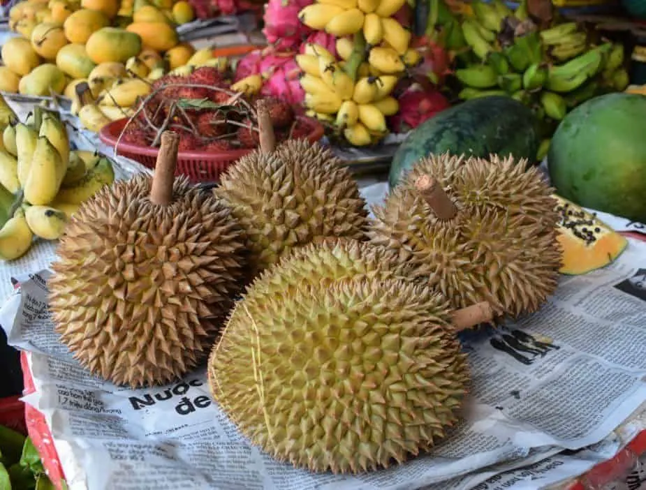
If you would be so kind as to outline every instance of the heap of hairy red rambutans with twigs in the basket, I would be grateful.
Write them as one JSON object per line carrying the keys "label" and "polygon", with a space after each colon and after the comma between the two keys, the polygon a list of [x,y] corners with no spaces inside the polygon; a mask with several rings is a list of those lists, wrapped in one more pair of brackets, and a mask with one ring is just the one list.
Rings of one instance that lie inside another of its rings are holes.
{"label": "heap of hairy red rambutans with twigs in the basket", "polygon": [[311,133],[315,121],[295,117],[286,101],[253,95],[256,88],[240,82],[231,87],[225,73],[209,66],[186,77],[166,75],[152,84],[152,94],[135,110],[121,141],[159,147],[161,133],[170,129],[179,135],[180,151],[253,149],[259,142],[253,106],[260,100],[267,104],[277,140]]}

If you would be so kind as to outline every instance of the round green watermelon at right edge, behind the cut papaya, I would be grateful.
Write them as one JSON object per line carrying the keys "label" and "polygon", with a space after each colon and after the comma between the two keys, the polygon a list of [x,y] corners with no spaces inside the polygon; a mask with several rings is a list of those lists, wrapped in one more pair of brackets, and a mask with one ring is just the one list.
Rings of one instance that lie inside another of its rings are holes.
{"label": "round green watermelon at right edge, behind the cut papaya", "polygon": [[552,138],[550,179],[576,204],[646,223],[646,97],[607,94],[570,112]]}

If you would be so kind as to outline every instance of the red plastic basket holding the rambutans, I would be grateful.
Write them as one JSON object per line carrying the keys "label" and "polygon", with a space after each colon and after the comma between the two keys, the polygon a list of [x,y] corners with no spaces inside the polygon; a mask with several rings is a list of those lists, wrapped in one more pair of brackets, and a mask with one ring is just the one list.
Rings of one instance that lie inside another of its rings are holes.
{"label": "red plastic basket holding the rambutans", "polygon": [[[297,116],[296,119],[302,126],[311,128],[307,140],[311,143],[317,142],[323,138],[324,129],[321,123],[310,117]],[[142,147],[138,144],[119,142],[117,149],[117,140],[123,131],[128,119],[118,119],[112,123],[103,126],[99,133],[99,138],[105,144],[115,148],[115,153],[131,160],[137,161],[147,168],[155,168],[157,152],[159,149],[151,147]],[[117,151],[118,150],[118,151]],[[180,151],[177,155],[177,168],[175,175],[187,175],[194,182],[212,182],[217,181],[222,172],[224,172],[231,163],[235,163],[251,152],[251,149],[239,149],[231,151],[219,151],[210,153],[207,151]]]}

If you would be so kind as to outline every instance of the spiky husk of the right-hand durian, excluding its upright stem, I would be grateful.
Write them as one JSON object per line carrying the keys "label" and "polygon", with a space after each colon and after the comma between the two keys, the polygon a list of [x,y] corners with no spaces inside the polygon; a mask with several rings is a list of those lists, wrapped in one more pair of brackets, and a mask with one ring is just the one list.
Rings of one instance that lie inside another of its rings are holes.
{"label": "spiky husk of the right-hand durian, excluding its upright stem", "polygon": [[[458,208],[436,218],[415,188],[420,175],[441,183]],[[536,311],[557,287],[561,251],[555,200],[536,168],[513,158],[430,156],[374,207],[368,235],[399,252],[416,276],[453,308],[487,301],[513,317]]]}

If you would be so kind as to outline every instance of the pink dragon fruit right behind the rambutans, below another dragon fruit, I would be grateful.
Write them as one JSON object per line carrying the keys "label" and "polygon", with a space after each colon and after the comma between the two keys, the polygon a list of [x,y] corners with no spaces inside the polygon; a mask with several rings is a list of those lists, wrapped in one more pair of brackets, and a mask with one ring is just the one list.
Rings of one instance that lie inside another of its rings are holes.
{"label": "pink dragon fruit right behind the rambutans, below another dragon fruit", "polygon": [[293,105],[300,105],[305,93],[300,86],[300,68],[293,51],[279,52],[274,47],[256,50],[247,54],[237,64],[235,80],[260,73],[265,77],[260,94],[283,99]]}

